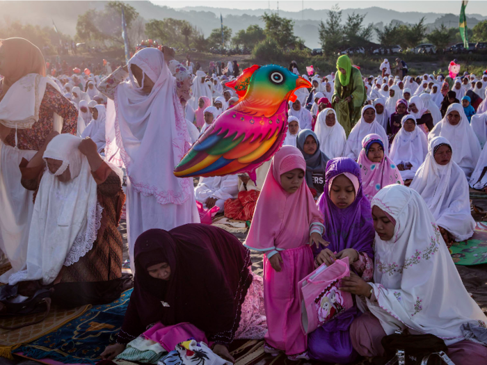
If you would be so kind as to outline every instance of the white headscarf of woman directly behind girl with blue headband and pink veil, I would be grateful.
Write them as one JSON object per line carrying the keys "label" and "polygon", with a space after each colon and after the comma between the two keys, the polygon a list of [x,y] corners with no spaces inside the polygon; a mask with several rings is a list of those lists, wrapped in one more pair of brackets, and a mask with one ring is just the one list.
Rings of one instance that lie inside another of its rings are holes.
{"label": "white headscarf of woman directly behind girl with blue headband and pink veil", "polygon": [[372,133],[376,133],[381,136],[384,143],[384,153],[388,154],[388,135],[385,133],[384,128],[381,126],[381,124],[378,124],[377,119],[374,119],[372,123],[367,123],[364,120],[364,112],[370,108],[374,109],[374,111],[376,110],[376,108],[374,108],[372,105],[366,105],[362,108],[362,117],[360,117],[358,123],[355,124],[351,130],[349,139],[346,140],[344,157],[350,157],[351,159],[357,161],[360,150],[362,149],[362,140],[365,138],[365,136]]}

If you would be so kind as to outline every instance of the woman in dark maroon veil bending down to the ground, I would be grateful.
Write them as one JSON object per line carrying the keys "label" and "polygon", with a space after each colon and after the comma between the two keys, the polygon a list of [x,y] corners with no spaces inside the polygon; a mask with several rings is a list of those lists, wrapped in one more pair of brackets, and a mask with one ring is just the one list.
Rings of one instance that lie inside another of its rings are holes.
{"label": "woman in dark maroon veil bending down to the ground", "polygon": [[264,338],[262,278],[253,275],[250,252],[235,236],[202,224],[149,229],[134,249],[134,292],[117,343],[102,357],[113,359],[159,321],[195,325],[216,342],[214,352],[230,361],[226,346],[235,337]]}

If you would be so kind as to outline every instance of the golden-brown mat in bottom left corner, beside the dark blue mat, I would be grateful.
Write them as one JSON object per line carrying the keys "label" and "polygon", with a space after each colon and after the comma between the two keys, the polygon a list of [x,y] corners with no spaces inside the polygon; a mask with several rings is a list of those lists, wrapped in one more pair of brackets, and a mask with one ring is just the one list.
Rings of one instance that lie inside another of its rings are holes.
{"label": "golden-brown mat in bottom left corner, beside the dark blue mat", "polygon": [[[81,316],[91,306],[83,305],[73,309],[63,309],[53,305],[51,311],[44,321],[35,325],[19,328],[18,330],[1,330],[0,329],[0,356],[7,359],[13,359],[11,352],[22,346],[24,343],[38,339],[49,332],[57,330],[74,318]],[[15,327],[24,323],[31,323],[39,320],[44,313],[29,314],[29,316],[18,316],[0,319],[0,325],[5,327]]]}

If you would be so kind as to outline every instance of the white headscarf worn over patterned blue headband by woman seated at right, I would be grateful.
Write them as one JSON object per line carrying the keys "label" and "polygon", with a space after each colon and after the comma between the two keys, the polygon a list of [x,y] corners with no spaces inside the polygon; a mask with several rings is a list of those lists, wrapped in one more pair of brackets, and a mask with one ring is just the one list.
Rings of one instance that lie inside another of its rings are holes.
{"label": "white headscarf worn over patterned blue headband by woman seated at right", "polygon": [[464,241],[474,234],[475,221],[470,213],[468,182],[462,169],[452,159],[447,165],[438,165],[434,153],[441,145],[451,145],[446,138],[435,137],[429,141],[428,155],[410,185],[416,190],[436,223],[454,236],[455,241]]}

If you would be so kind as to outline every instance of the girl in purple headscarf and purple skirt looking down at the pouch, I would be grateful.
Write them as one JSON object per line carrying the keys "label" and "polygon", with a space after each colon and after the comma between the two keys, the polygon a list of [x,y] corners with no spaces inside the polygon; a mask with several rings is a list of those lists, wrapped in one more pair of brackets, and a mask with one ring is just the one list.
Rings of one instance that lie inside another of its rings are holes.
{"label": "girl in purple headscarf and purple skirt looking down at the pouch", "polygon": [[[324,216],[323,238],[330,244],[319,248],[313,245],[314,266],[331,265],[336,259],[349,257],[352,277],[372,279],[374,225],[369,200],[362,191],[360,167],[355,161],[345,157],[328,161],[318,208]],[[349,327],[358,316],[360,311],[353,305],[309,334],[310,358],[339,364],[353,362],[358,354],[353,350]]]}

